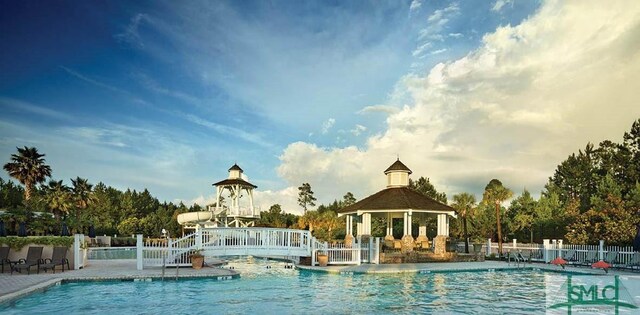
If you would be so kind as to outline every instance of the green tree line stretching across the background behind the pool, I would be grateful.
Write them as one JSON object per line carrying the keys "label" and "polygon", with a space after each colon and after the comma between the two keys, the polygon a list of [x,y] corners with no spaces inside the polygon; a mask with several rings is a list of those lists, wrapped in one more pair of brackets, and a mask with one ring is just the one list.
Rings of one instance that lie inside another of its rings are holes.
{"label": "green tree line stretching across the background behind the pool", "polygon": [[[180,235],[177,215],[203,210],[197,204],[160,202],[146,189],[121,191],[101,182],[92,185],[80,177],[66,186],[61,180],[50,179],[51,167],[36,148],[17,151],[4,169],[21,185],[0,179],[0,219],[9,233],[16,233],[19,224],[26,222],[31,233],[38,235],[59,234],[63,224],[81,233],[91,227],[97,234],[159,236],[164,228],[171,235]],[[577,244],[595,244],[602,239],[612,245],[629,245],[640,224],[639,183],[640,119],[624,133],[622,143],[588,143],[567,157],[537,200],[526,189],[516,196],[499,179],[487,183],[480,200],[463,192],[452,196],[451,203],[428,177],[410,180],[410,187],[456,209],[458,218],[450,222],[451,234],[461,240],[491,238],[501,246],[514,238],[525,242],[555,238]],[[308,229],[324,240],[344,238],[345,220],[337,213],[355,203],[355,196],[347,192],[312,210],[317,199],[311,185],[303,183],[298,191],[303,215],[275,204],[261,212],[256,225]],[[412,229],[417,234],[417,223]],[[427,221],[427,230],[429,237],[435,236],[435,218]],[[400,238],[401,233],[402,227],[395,226],[394,236]],[[386,234],[383,218],[372,219],[372,234]]]}

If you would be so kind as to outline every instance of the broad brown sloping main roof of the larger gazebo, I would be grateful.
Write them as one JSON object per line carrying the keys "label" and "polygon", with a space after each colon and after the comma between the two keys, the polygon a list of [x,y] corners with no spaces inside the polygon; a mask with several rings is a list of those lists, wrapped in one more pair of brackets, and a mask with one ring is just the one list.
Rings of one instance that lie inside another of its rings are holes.
{"label": "broad brown sloping main roof of the larger gazebo", "polygon": [[429,198],[419,192],[416,192],[409,187],[392,187],[392,188],[381,190],[348,207],[340,209],[338,210],[338,213],[353,213],[357,211],[367,211],[367,210],[375,211],[375,210],[408,210],[408,209],[418,210],[418,211],[431,210],[431,211],[455,212],[455,209],[439,201],[436,201],[432,198]]}

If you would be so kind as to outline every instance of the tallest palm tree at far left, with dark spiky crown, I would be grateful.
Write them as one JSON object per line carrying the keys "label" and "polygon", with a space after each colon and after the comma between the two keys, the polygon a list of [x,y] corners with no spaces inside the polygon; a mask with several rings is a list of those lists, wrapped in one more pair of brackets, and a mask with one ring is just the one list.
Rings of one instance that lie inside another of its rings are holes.
{"label": "tallest palm tree at far left, with dark spiky crown", "polygon": [[11,154],[11,162],[5,164],[4,169],[24,185],[24,200],[28,201],[33,187],[51,177],[51,167],[44,164],[44,154],[38,153],[38,149],[26,146],[16,149],[18,154]]}

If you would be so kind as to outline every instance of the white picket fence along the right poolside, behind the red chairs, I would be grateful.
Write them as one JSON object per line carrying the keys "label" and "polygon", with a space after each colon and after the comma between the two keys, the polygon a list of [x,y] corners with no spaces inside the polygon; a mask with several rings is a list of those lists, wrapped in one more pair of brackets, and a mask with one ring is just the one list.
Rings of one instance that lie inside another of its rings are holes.
{"label": "white picket fence along the right poolside, behind the red chairs", "polygon": [[[464,245],[463,245],[464,246]],[[498,255],[498,244],[487,240],[486,244],[487,255]],[[633,257],[632,246],[605,246],[604,241],[600,241],[598,245],[575,245],[564,244],[563,240],[543,240],[542,244],[522,244],[517,243],[517,240],[512,242],[502,243],[502,252],[507,253],[509,251],[521,251],[524,253],[530,253],[531,259],[538,262],[550,262],[557,257],[561,257],[569,250],[575,251],[575,256],[572,260],[584,262],[589,252],[596,252],[596,260],[605,260],[607,255],[611,253],[617,253],[613,261],[614,265],[627,265],[631,262]],[[525,255],[525,257],[528,257]]]}

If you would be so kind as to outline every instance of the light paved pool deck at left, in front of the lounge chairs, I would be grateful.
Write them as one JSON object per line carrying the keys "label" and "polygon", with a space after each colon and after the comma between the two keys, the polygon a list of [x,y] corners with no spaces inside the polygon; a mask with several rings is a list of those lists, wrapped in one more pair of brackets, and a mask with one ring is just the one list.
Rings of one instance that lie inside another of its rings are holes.
{"label": "light paved pool deck at left, in front of the lounge chairs", "polygon": [[[176,272],[177,271],[177,272]],[[215,280],[228,280],[238,277],[235,270],[204,267],[200,270],[188,268],[167,268],[165,270],[165,280],[175,280],[185,278],[211,278]],[[35,291],[46,290],[47,288],[60,284],[64,281],[160,281],[162,279],[161,267],[147,267],[144,270],[136,269],[135,260],[95,260],[91,264],[80,270],[70,270],[56,273],[49,271],[36,273],[32,268],[31,274],[16,273],[13,275],[6,270],[0,274],[0,304],[20,298]]]}

